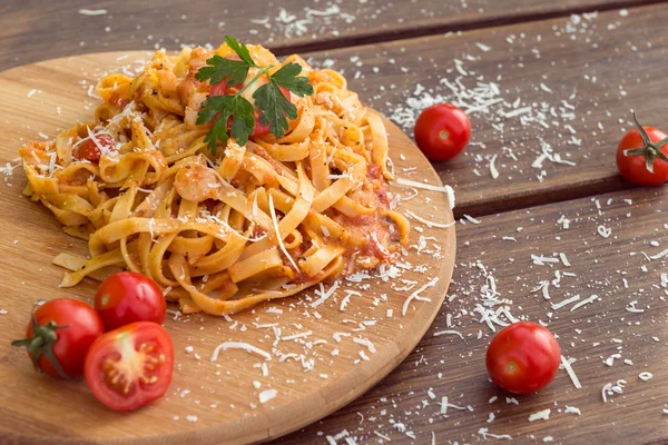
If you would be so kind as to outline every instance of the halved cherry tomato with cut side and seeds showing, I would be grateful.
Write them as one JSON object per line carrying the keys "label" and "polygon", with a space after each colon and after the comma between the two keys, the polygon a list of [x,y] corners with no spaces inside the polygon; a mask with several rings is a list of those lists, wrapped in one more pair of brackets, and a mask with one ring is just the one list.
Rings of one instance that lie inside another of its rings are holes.
{"label": "halved cherry tomato with cut side and seeds showing", "polygon": [[115,411],[132,411],[167,392],[174,346],[165,328],[138,322],[99,337],[86,356],[86,383]]}

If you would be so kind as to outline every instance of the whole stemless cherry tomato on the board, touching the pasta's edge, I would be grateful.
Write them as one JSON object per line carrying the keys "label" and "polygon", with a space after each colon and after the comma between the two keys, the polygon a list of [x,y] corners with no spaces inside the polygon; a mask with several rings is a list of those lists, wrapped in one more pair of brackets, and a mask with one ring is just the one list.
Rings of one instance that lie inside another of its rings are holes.
{"label": "whole stemless cherry tomato on the board, touching the pasta's edge", "polygon": [[155,281],[134,271],[119,271],[102,281],[95,294],[95,309],[107,330],[135,322],[165,320],[167,304]]}

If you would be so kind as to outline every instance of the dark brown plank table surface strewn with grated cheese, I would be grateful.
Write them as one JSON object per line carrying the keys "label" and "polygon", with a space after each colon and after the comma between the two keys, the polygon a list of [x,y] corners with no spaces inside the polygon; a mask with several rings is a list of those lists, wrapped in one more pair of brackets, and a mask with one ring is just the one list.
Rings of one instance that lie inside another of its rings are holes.
{"label": "dark brown plank table surface strewn with grated cheese", "polygon": [[[633,188],[615,167],[631,109],[646,125],[668,127],[666,3],[4,0],[0,70],[85,52],[217,44],[229,33],[343,71],[409,135],[420,109],[460,105],[472,142],[434,165],[455,189],[456,215],[473,217],[458,227],[448,303],[383,383],[277,443],[668,443],[668,192]],[[503,307],[559,336],[581,389],[566,370],[524,397],[489,382],[493,332],[481,317]],[[434,336],[441,330],[459,334]],[[605,402],[608,384],[617,393]],[[529,422],[543,409],[549,419]]]}

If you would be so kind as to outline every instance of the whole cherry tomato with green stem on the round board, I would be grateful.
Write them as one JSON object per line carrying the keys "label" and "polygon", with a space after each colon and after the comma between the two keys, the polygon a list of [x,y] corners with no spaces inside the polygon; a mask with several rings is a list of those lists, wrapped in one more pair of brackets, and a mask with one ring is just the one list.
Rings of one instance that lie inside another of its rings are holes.
{"label": "whole cherry tomato with green stem on the round board", "polygon": [[56,298],[38,307],[26,329],[26,338],[12,342],[26,346],[35,367],[60,378],[84,375],[88,348],[105,333],[92,307],[72,298]]}

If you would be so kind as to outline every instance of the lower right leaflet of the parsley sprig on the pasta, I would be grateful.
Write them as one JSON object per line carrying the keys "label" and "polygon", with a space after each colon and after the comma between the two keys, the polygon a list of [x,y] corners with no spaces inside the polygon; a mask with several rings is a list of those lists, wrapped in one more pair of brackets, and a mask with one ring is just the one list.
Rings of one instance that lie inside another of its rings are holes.
{"label": "lower right leaflet of the parsley sprig on the pasta", "polygon": [[269,131],[277,138],[283,137],[289,128],[287,119],[297,118],[297,108],[278,88],[278,82],[272,77],[268,83],[263,85],[253,95],[255,105],[262,110],[259,121],[262,125],[269,125]]}

